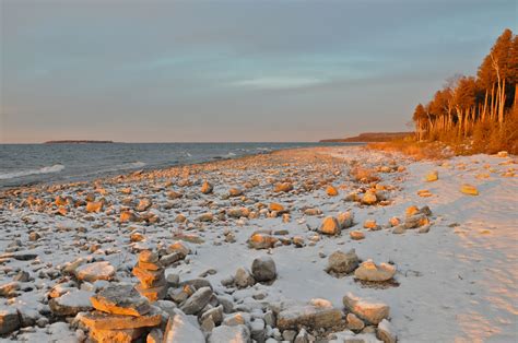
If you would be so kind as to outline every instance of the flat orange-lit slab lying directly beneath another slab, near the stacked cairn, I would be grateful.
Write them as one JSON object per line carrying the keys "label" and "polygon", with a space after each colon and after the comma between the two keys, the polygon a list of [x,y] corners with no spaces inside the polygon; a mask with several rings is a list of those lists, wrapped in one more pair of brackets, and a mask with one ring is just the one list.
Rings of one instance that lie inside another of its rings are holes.
{"label": "flat orange-lit slab lying directly beneath another slab, near the stacked cairn", "polygon": [[76,319],[91,330],[121,330],[160,326],[162,315],[158,310],[139,317],[92,311],[79,314]]}

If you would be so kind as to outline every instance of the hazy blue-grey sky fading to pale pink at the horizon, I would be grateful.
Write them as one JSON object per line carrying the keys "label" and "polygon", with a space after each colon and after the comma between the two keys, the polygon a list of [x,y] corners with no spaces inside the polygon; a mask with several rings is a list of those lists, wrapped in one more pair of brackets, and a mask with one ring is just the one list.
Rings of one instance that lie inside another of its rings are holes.
{"label": "hazy blue-grey sky fading to pale pink at the horizon", "polygon": [[0,143],[407,131],[515,0],[0,0]]}

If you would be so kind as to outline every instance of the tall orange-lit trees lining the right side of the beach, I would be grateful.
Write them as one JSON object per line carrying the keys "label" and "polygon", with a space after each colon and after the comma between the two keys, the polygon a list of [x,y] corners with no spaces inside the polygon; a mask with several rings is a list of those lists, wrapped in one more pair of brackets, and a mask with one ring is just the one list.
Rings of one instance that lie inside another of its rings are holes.
{"label": "tall orange-lit trees lining the right side of the beach", "polygon": [[[518,150],[518,36],[496,39],[476,76],[447,80],[413,114],[419,141],[469,142],[480,151]],[[483,149],[485,147],[485,149]]]}

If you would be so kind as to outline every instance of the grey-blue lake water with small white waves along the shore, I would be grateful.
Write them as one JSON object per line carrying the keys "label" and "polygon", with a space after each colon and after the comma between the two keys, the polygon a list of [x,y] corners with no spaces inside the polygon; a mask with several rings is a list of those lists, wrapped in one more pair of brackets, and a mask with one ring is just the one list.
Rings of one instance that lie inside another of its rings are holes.
{"label": "grey-blue lake water with small white waves along the shore", "polygon": [[90,180],[275,150],[354,143],[86,143],[0,144],[0,188]]}

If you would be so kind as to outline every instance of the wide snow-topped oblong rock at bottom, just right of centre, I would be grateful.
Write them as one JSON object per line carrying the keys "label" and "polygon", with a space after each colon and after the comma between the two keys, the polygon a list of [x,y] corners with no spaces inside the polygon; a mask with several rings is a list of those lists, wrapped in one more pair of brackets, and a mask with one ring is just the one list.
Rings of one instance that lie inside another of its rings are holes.
{"label": "wide snow-topped oblong rock at bottom, just right of centre", "polygon": [[313,330],[337,327],[342,322],[342,311],[338,308],[313,305],[293,306],[279,312],[276,326],[280,330],[297,329],[299,326]]}

